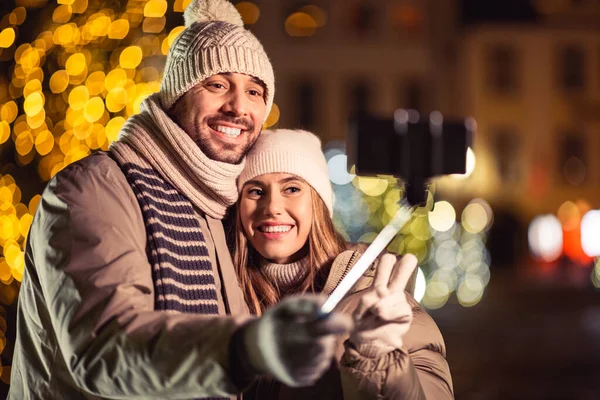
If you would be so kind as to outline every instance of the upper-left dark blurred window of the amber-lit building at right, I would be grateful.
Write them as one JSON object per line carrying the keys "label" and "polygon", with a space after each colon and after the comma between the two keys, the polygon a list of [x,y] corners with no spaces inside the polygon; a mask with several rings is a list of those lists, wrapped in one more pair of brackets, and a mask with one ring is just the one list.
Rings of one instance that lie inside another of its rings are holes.
{"label": "upper-left dark blurred window of the amber-lit building at right", "polygon": [[487,51],[488,86],[497,94],[512,94],[519,86],[517,51],[508,44],[496,44]]}

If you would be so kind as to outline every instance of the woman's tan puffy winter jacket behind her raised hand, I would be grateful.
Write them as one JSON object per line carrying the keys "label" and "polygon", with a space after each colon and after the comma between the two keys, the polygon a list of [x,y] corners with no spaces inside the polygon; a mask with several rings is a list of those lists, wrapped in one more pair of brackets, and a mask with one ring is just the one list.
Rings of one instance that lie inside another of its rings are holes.
{"label": "woman's tan puffy winter jacket behind her raised hand", "polygon": [[[330,294],[348,273],[366,246],[351,245],[354,250],[340,254],[331,267],[323,292]],[[359,279],[336,311],[352,314],[358,306],[360,294],[371,286],[376,272],[374,263]],[[416,275],[415,275],[416,276]],[[446,347],[442,334],[433,319],[411,296],[414,279],[407,286],[407,298],[413,307],[413,322],[403,338],[404,348],[379,358],[359,354],[347,341],[338,342],[339,363],[312,387],[289,388],[279,384],[262,384],[258,399],[338,399],[416,400],[453,399],[452,378],[446,361]],[[266,386],[266,387],[265,387]]]}

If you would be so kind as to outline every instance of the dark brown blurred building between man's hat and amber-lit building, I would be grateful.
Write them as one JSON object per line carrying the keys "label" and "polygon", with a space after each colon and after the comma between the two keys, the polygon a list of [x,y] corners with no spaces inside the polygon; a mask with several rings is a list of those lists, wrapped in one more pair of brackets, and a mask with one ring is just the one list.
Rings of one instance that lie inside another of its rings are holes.
{"label": "dark brown blurred building between man's hat and amber-lit building", "polygon": [[[438,55],[454,0],[237,3],[275,65],[281,126],[343,140],[353,113],[430,111],[444,101]],[[248,7],[247,10],[245,8]],[[256,14],[258,12],[258,14]]]}

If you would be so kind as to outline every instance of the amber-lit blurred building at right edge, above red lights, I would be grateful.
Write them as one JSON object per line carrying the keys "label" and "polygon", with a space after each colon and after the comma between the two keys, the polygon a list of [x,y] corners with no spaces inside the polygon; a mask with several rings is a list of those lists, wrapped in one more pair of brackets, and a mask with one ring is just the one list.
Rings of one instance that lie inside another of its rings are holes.
{"label": "amber-lit blurred building at right edge, above red lights", "polygon": [[478,122],[461,195],[523,220],[568,200],[600,207],[600,2],[532,3],[536,23],[465,28],[455,69],[462,112]]}

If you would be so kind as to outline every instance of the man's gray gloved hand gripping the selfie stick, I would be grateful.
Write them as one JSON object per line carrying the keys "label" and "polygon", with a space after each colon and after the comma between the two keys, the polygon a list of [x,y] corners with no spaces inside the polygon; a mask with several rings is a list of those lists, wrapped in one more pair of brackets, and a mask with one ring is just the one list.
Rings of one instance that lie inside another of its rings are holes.
{"label": "man's gray gloved hand gripping the selfie stick", "polygon": [[317,319],[324,296],[284,299],[244,327],[248,361],[288,386],[309,386],[331,365],[336,335],[352,328],[350,316],[331,313]]}

